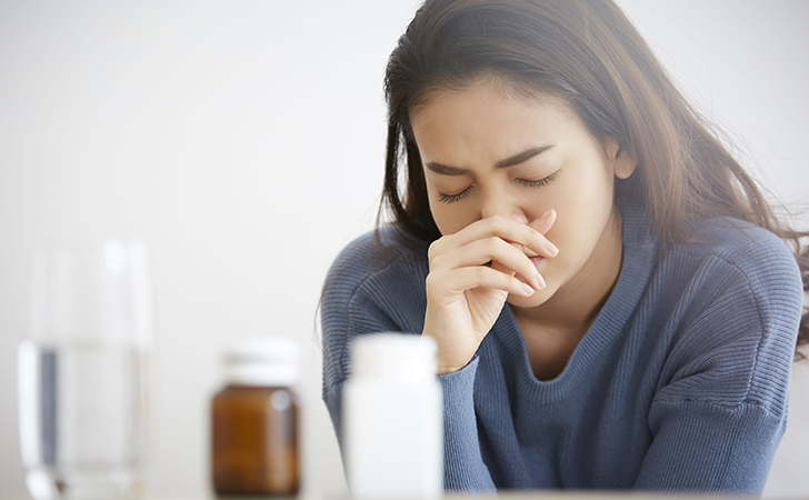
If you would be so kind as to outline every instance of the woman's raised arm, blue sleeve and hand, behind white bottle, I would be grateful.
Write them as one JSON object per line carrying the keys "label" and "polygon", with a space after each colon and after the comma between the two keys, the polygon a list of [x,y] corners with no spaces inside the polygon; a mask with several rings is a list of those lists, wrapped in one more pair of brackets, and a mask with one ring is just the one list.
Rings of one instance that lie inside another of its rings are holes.
{"label": "woman's raised arm, blue sleeve and hand, behind white bottle", "polygon": [[[556,256],[558,250],[543,236],[555,220],[553,210],[533,226],[483,219],[435,241],[420,256],[407,253],[403,246],[381,250],[366,237],[338,257],[322,300],[323,399],[341,447],[342,383],[351,339],[381,331],[421,332],[438,346],[445,488],[495,490],[478,441],[472,358],[509,293],[531,296],[545,288],[525,248]],[[518,270],[531,286],[520,282]]]}

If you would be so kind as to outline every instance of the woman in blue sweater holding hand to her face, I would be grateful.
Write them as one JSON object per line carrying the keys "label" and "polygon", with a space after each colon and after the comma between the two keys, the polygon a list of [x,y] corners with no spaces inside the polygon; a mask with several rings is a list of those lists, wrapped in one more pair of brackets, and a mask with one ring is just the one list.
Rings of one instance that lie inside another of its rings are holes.
{"label": "woman in blue sweater holding hand to her face", "polygon": [[340,254],[322,301],[338,436],[348,342],[421,333],[449,490],[760,493],[809,340],[808,234],[623,13],[428,0],[386,91],[394,222]]}

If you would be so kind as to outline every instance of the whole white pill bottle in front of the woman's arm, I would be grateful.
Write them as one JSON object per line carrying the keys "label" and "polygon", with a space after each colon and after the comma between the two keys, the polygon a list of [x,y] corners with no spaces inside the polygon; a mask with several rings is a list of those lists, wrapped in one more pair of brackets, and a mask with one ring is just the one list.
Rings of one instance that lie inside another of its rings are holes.
{"label": "whole white pill bottle in front of the woman's arm", "polygon": [[348,487],[358,499],[443,493],[443,418],[428,337],[373,333],[351,343],[343,393]]}

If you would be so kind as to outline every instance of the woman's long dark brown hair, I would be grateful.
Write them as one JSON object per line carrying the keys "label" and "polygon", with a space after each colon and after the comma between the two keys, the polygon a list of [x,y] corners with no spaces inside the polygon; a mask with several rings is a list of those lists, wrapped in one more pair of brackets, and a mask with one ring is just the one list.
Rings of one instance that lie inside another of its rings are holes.
{"label": "woman's long dark brown hair", "polygon": [[[390,211],[420,240],[440,238],[410,113],[430,92],[463,88],[481,77],[527,96],[559,97],[593,137],[613,138],[627,148],[638,168],[616,180],[616,200],[647,210],[662,244],[687,241],[689,221],[741,219],[790,244],[803,290],[809,290],[809,249],[801,246],[809,231],[790,229],[776,217],[761,189],[718,139],[721,132],[686,101],[611,0],[427,0],[388,61],[380,217]],[[807,311],[798,347],[805,343]]]}

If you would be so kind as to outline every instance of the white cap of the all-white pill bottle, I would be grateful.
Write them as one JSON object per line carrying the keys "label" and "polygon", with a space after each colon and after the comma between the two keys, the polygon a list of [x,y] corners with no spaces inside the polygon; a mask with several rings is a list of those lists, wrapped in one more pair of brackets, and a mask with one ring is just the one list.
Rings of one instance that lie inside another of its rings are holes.
{"label": "white cap of the all-white pill bottle", "polygon": [[408,333],[372,333],[351,342],[351,377],[435,378],[436,341]]}

